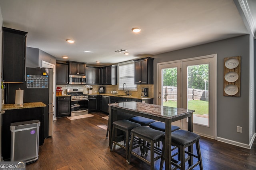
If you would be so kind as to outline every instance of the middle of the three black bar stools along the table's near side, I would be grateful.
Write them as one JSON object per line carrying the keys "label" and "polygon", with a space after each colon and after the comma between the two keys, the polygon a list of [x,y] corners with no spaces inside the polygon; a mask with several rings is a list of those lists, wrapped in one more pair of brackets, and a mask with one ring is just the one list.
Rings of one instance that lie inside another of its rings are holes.
{"label": "middle of the three black bar stools along the table's near side", "polygon": [[[140,160],[150,164],[151,170],[154,170],[154,162],[161,158],[162,150],[159,148],[154,147],[154,143],[161,141],[163,138],[162,136],[165,133],[160,130],[152,129],[148,126],[139,126],[131,130],[131,143],[130,148],[128,152],[128,160],[127,163],[130,164],[131,160],[131,154],[134,154],[137,158]],[[134,138],[138,137],[139,139],[142,139],[143,142],[139,143],[138,145],[133,145]],[[150,142],[151,146],[146,146],[145,142]],[[145,158],[139,156],[135,152],[132,152],[133,149],[143,146],[143,153],[145,153],[145,149],[150,149],[150,162],[146,160]],[[158,156],[154,157],[154,153],[158,154]]]}

